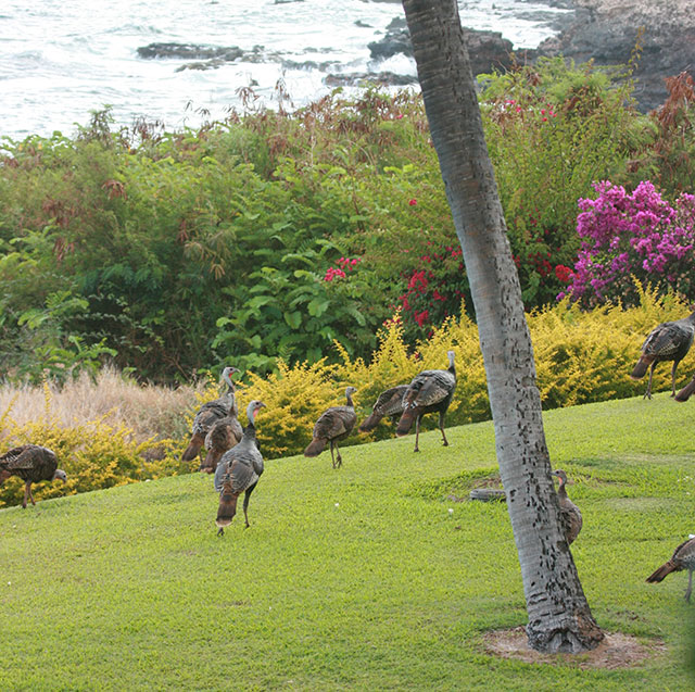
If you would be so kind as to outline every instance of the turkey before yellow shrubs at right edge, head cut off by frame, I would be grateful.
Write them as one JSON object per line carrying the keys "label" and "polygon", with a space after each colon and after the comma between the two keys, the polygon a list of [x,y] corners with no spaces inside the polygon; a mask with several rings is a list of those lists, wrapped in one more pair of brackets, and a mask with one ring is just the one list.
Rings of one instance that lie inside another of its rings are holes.
{"label": "turkey before yellow shrubs at right edge, head cut off by frame", "polygon": [[673,361],[671,367],[671,397],[675,397],[675,368],[685,357],[695,336],[695,312],[675,322],[655,327],[642,344],[642,355],[632,370],[632,379],[644,377],[649,369],[649,381],[643,399],[652,399],[654,366],[661,361]]}

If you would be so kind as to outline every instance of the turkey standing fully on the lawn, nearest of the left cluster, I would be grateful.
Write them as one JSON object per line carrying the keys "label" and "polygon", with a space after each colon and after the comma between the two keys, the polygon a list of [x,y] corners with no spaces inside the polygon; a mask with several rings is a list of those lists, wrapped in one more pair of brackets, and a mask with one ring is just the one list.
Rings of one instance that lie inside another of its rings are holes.
{"label": "turkey standing fully on the lawn, nearest of the left cluster", "polygon": [[249,528],[249,500],[263,474],[263,455],[256,442],[255,417],[265,404],[253,400],[247,406],[249,425],[243,429],[241,442],[225,452],[215,470],[215,490],[219,493],[217,507],[217,536],[225,532],[237,514],[237,499],[243,492],[243,516]]}

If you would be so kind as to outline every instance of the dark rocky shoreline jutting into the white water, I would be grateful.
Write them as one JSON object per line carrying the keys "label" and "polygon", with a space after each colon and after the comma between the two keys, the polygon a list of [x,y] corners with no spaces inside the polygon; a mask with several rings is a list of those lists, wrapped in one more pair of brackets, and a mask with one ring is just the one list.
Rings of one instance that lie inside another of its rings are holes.
{"label": "dark rocky shoreline jutting into the white water", "polygon": [[[400,0],[372,0],[397,2]],[[538,2],[538,0],[529,0]],[[695,72],[695,12],[692,0],[545,0],[549,8],[571,10],[547,14],[547,21],[558,32],[535,50],[517,51],[516,58],[533,62],[540,56],[564,55],[577,64],[593,61],[596,65],[624,65],[641,46],[641,55],[633,73],[637,108],[647,112],[658,108],[668,93],[665,78],[683,71]],[[395,8],[394,8],[395,11]],[[533,10],[534,18],[542,11]],[[473,74],[505,70],[513,63],[511,41],[498,32],[465,29]],[[263,46],[242,50],[237,46],[214,47],[182,43],[150,43],[138,48],[142,59],[184,59],[177,70],[212,70],[237,62],[280,62],[288,70],[311,68],[326,73],[325,84],[358,85],[376,81],[390,86],[415,84],[413,75],[379,70],[382,61],[396,55],[413,55],[405,18],[394,17],[386,34],[369,43],[371,71],[345,73],[338,61],[283,60]]]}

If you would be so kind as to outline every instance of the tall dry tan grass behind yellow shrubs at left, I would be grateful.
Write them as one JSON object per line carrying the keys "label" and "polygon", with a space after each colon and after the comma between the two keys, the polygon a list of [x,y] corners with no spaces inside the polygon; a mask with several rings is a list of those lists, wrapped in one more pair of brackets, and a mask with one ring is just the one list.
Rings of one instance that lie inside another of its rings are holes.
{"label": "tall dry tan grass behind yellow shrubs at left", "polygon": [[[49,385],[50,416],[65,428],[105,416],[112,426],[130,428],[138,441],[178,439],[187,435],[190,412],[200,405],[206,385],[206,380],[177,389],[141,385],[106,367],[96,382],[83,375],[60,389]],[[45,417],[46,407],[42,386],[0,385],[0,416],[9,412],[18,426]],[[0,439],[3,435],[0,430]]]}

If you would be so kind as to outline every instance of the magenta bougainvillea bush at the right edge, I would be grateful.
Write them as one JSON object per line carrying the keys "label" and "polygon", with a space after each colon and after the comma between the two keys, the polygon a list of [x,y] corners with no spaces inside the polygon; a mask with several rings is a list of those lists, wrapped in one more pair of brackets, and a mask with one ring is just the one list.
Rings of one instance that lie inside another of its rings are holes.
{"label": "magenta bougainvillea bush at the right edge", "polygon": [[695,299],[695,197],[682,193],[671,206],[648,180],[632,194],[608,180],[594,189],[595,200],[579,200],[582,242],[558,300],[569,294],[586,307],[607,301],[636,305],[635,279],[658,293]]}

